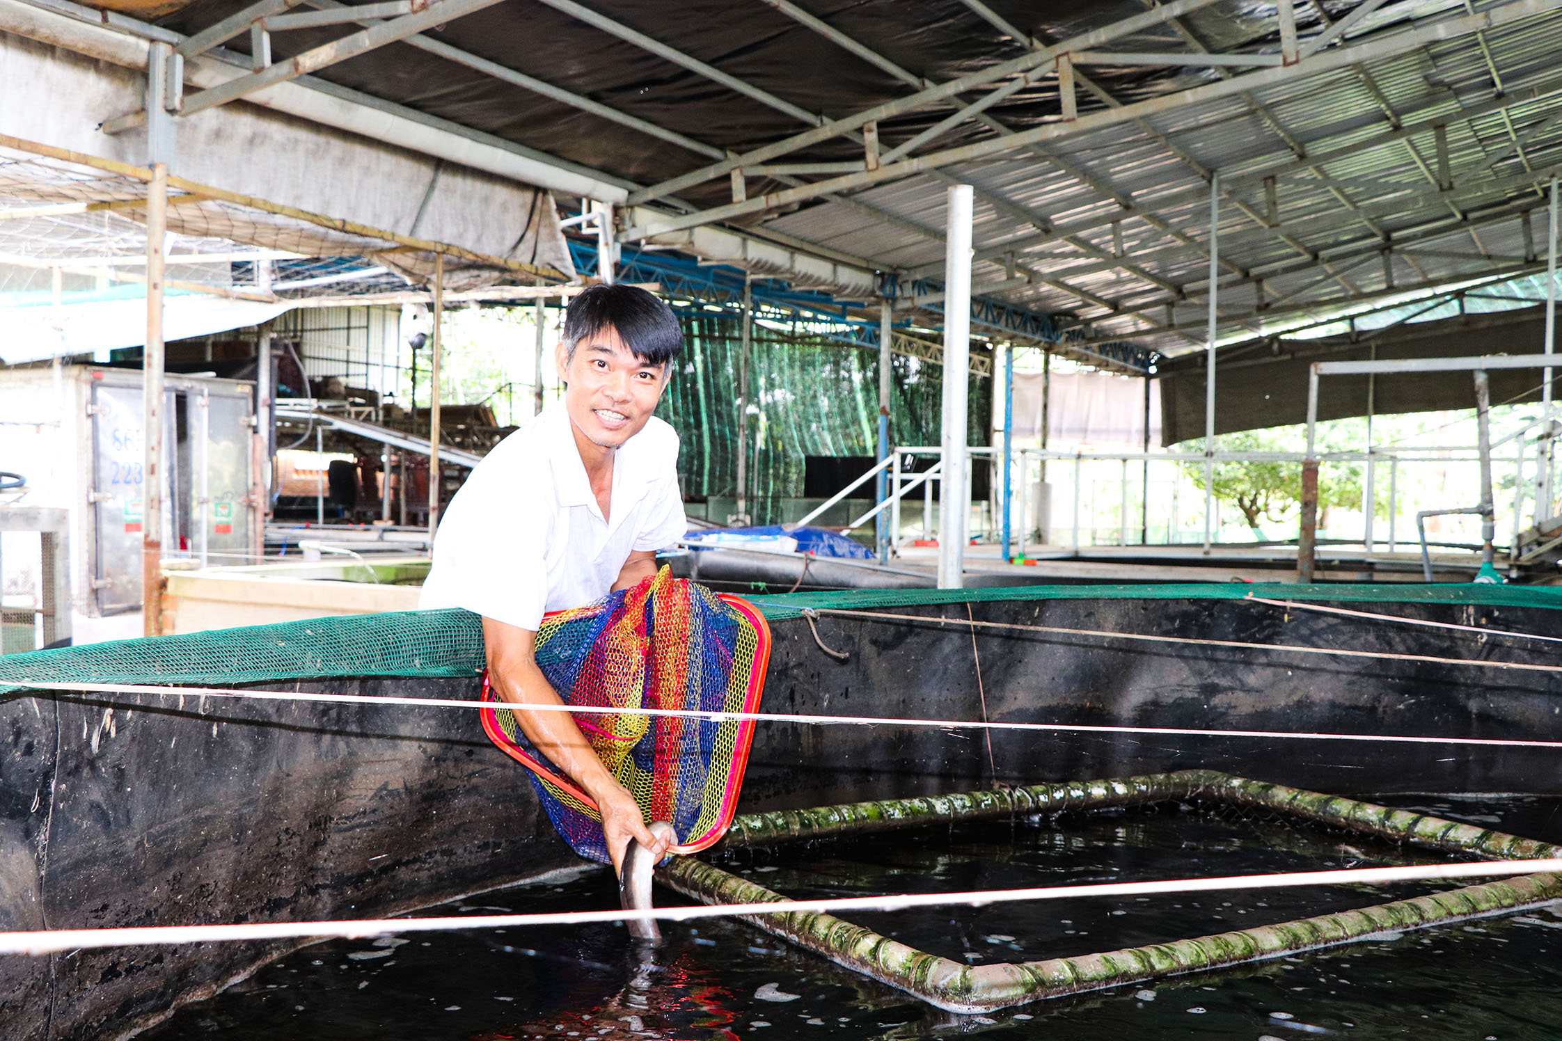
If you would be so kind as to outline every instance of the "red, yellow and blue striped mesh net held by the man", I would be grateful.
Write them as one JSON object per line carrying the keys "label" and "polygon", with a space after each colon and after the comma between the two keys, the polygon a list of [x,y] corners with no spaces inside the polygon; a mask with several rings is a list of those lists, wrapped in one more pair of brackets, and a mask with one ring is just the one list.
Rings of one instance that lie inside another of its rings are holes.
{"label": "red, yellow and blue striped mesh net held by the man", "polygon": [[[615,709],[754,712],[770,627],[747,601],[719,596],[662,568],[631,590],[551,613],[537,631],[537,666],[575,713],[592,749],[647,821],[695,852],[726,832],[748,762],[753,721],[645,716]],[[487,677],[484,701],[494,701]],[[609,862],[597,804],[526,741],[509,709],[483,709],[483,729],[531,769],[548,818],[581,857]]]}

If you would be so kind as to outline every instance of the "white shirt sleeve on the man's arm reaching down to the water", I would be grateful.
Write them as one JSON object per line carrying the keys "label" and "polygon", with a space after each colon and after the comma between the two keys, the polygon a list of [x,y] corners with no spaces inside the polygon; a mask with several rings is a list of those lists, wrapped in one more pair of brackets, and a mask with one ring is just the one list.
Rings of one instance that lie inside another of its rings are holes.
{"label": "white shirt sleeve on the man's arm reaching down to the water", "polygon": [[534,482],[505,470],[480,465],[450,501],[417,606],[461,607],[536,632],[548,599],[553,518],[517,495]]}

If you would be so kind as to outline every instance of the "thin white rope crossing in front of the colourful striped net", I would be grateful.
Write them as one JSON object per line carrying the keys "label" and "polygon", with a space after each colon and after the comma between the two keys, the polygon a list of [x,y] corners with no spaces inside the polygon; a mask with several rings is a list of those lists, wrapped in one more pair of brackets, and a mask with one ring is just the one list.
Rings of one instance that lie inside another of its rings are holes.
{"label": "thin white rope crossing in front of the colourful striped net", "polygon": [[1153,734],[1161,737],[1251,737],[1300,741],[1387,741],[1400,744],[1476,744],[1490,748],[1562,749],[1562,741],[1509,740],[1495,737],[1420,737],[1409,734],[1314,734],[1304,730],[1200,730],[1193,727],[1104,726],[1090,723],[984,723],[979,719],[918,719],[904,716],[820,716],[801,712],[708,712],[703,709],[600,709],[592,705],[548,705],[462,698],[403,698],[387,695],[316,695],[292,690],[244,690],[230,687],[148,687],[141,684],[73,684],[55,680],[11,680],[12,687],[30,690],[64,690],[80,693],[130,693],[172,696],[251,698],[259,701],[306,701],[350,705],[409,705],[417,709],[509,709],[512,712],[569,712],[594,715],[669,716],[673,719],[709,719],[711,723],[804,723],[812,726],[903,726],[934,730],[1029,730],[1043,734]]}

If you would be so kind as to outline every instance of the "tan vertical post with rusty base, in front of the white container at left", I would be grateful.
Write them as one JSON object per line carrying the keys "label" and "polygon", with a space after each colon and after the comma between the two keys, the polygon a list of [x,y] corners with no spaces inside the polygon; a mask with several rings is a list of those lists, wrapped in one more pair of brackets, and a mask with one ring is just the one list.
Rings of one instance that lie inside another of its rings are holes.
{"label": "tan vertical post with rusty base, in front of the white container at left", "polygon": [[148,637],[162,635],[162,242],[167,229],[169,167],[158,162],[147,186],[147,350],[141,368],[141,629]]}

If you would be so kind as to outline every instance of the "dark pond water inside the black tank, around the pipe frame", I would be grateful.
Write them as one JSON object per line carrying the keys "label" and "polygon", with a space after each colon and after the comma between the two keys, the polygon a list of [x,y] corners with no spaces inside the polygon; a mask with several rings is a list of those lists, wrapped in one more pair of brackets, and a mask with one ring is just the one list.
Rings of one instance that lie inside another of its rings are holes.
{"label": "dark pond water inside the black tank, around the pipe frame", "polygon": [[[1562,799],[1395,799],[1562,840]],[[1175,879],[1429,860],[1278,819],[1178,808],[1064,816],[742,852],[729,871],[789,896]],[[1093,899],[848,915],[972,963],[1022,961],[1226,932],[1426,886]],[[673,902],[662,893],[659,899]],[[603,908],[606,871],[505,890],[431,915]],[[622,926],[412,933],[308,947],[147,1035],[186,1041],[783,1041],[826,1036],[1562,1039],[1562,904],[1153,985],[954,1016],[736,922],[664,926],[639,955]]]}

